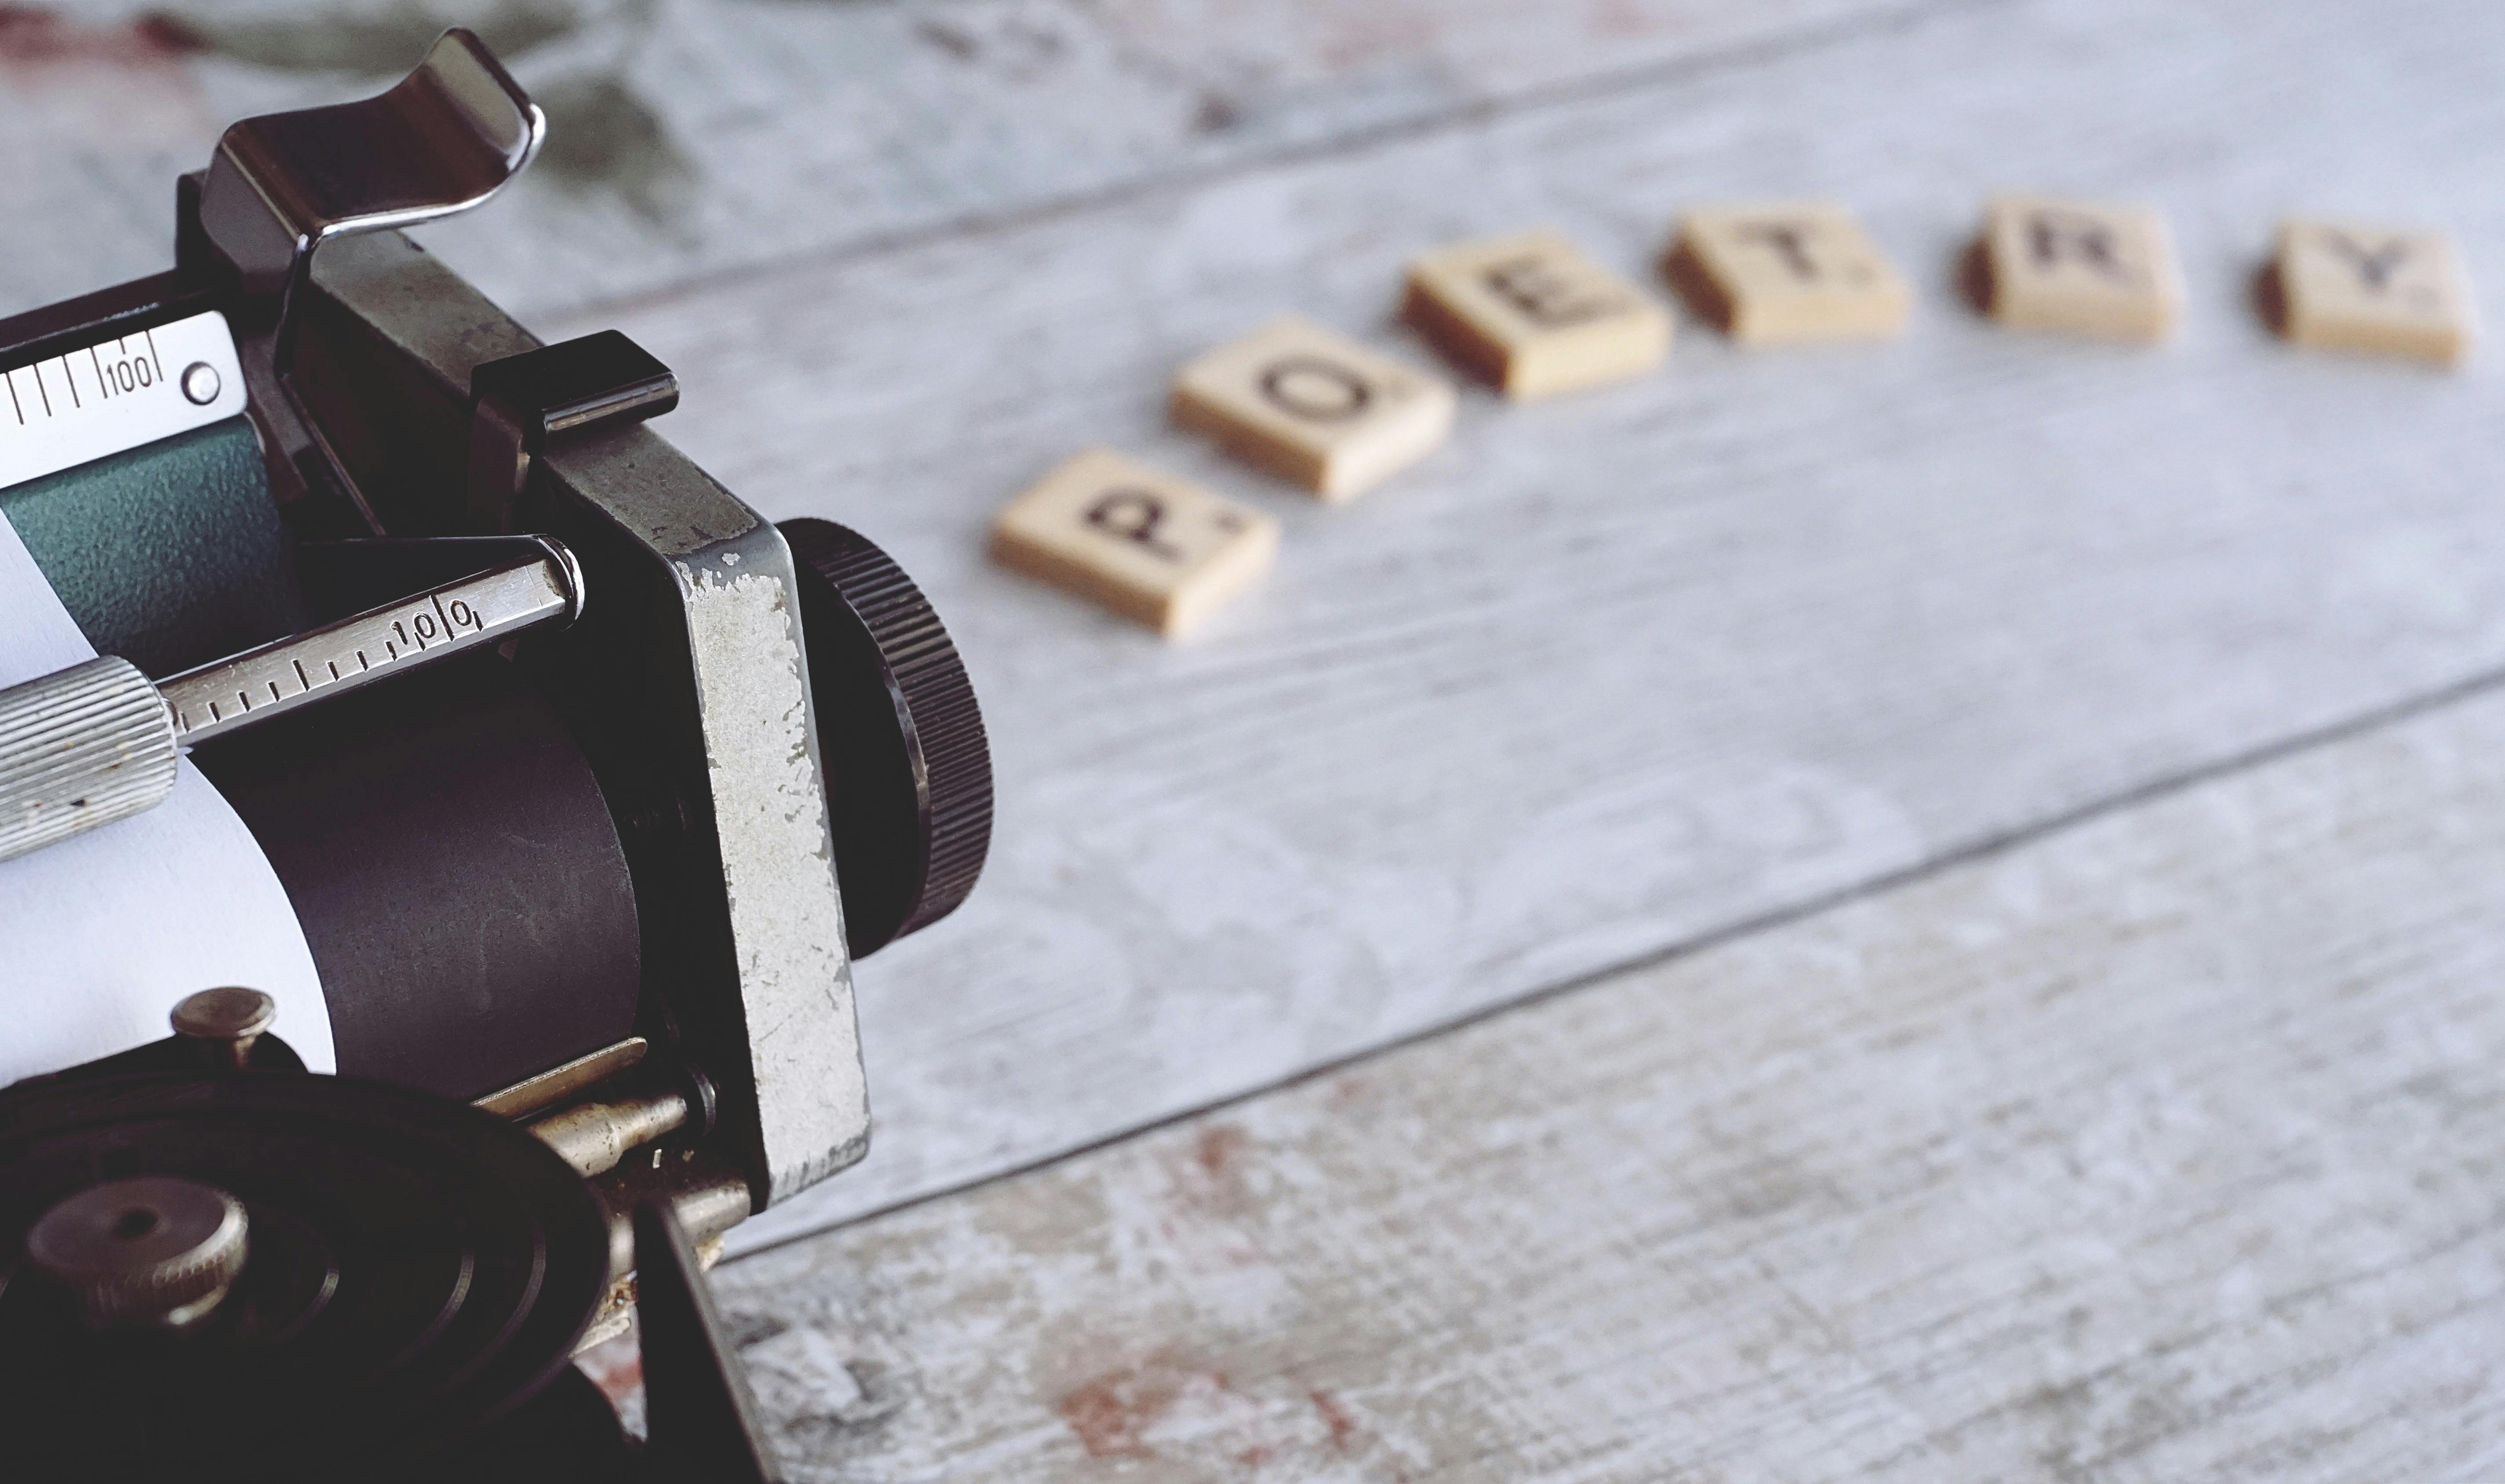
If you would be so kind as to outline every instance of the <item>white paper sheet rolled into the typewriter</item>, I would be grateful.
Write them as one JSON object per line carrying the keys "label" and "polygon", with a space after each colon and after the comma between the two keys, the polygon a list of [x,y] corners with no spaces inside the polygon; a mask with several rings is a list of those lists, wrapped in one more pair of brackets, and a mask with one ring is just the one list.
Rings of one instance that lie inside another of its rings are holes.
{"label": "white paper sheet rolled into the typewriter", "polygon": [[[93,657],[0,519],[0,687]],[[175,1000],[213,985],[276,995],[273,1030],[336,1070],[296,910],[190,762],[155,810],[0,860],[0,1083],[155,1040]]]}

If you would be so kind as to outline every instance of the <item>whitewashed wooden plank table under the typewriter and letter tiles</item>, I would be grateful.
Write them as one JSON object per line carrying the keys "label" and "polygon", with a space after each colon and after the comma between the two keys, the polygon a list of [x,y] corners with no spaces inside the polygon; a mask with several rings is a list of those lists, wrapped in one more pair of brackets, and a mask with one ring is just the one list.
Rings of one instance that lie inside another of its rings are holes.
{"label": "whitewashed wooden plank table under the typewriter and letter tiles", "polygon": [[[438,251],[889,544],[992,722],[874,1153],[716,1273],[794,1476],[2505,1476],[2505,406],[2247,303],[2305,208],[2505,281],[2505,13],[95,5],[0,25],[0,301],[443,20],[559,145]],[[1994,188],[2162,206],[2177,343],[1979,321]],[[1280,308],[1423,356],[1438,241],[1651,281],[1796,193],[1909,336],[1688,323],[1345,509],[1162,429]],[[1268,589],[1165,647],[984,564],[1092,441],[1275,511]]]}

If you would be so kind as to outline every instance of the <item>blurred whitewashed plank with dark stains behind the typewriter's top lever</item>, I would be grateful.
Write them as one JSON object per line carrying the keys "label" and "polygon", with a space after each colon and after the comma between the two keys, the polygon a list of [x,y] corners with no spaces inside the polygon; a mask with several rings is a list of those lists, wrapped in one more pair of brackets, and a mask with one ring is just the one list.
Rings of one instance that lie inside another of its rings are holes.
{"label": "blurred whitewashed plank with dark stains behind the typewriter's top lever", "polygon": [[70,3],[0,20],[0,313],[155,273],[228,120],[471,25],[549,110],[428,233],[524,318],[1142,180],[1816,43],[1971,0]]}

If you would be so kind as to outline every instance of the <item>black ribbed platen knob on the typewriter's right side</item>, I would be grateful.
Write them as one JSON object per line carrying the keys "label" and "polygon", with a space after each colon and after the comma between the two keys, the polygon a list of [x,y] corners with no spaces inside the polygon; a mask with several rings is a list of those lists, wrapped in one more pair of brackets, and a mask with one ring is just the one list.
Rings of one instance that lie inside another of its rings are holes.
{"label": "black ribbed platen knob on the typewriter's right side", "polygon": [[834,521],[777,526],[799,569],[809,694],[852,958],[957,910],[992,845],[992,747],[939,614]]}

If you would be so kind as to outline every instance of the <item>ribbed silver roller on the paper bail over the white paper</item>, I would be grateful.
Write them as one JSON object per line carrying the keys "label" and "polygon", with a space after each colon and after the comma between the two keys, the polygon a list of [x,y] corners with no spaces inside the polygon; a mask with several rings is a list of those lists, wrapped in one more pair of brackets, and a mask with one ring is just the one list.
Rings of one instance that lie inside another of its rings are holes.
{"label": "ribbed silver roller on the paper bail over the white paper", "polygon": [[173,712],[128,659],[0,689],[0,860],[158,807],[178,760]]}

